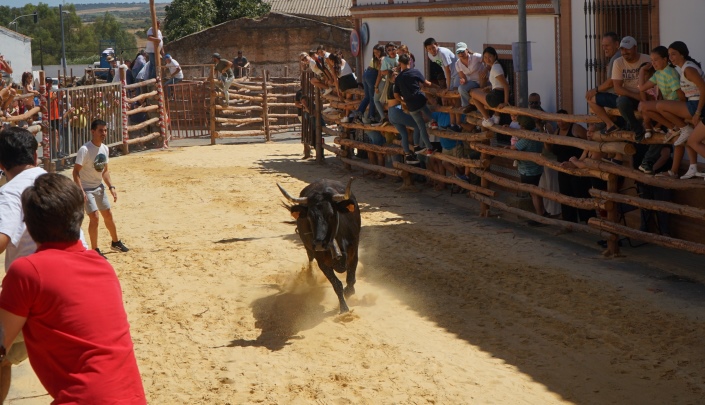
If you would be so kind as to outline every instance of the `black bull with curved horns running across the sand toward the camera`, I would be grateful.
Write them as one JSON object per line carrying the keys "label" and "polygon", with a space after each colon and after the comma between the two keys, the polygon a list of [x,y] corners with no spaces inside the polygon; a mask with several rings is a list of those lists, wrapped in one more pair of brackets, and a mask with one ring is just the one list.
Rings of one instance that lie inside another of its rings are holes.
{"label": "black bull with curved horns running across the sand toward the camera", "polygon": [[[340,313],[348,312],[345,297],[355,294],[360,243],[360,207],[350,192],[352,181],[350,178],[344,186],[335,180],[316,180],[301,190],[299,198],[292,197],[277,184],[284,197],[294,204],[287,208],[296,219],[296,230],[306,247],[309,263],[316,259],[333,285]],[[347,272],[345,289],[334,271]]]}

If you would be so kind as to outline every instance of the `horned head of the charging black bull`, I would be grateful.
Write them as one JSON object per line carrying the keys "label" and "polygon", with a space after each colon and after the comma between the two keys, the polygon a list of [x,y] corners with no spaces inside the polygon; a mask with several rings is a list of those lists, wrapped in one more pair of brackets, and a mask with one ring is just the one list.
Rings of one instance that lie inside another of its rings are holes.
{"label": "horned head of the charging black bull", "polygon": [[[287,206],[291,216],[297,220],[299,232],[310,231],[313,249],[325,251],[333,249],[340,213],[355,211],[355,202],[350,199],[354,178],[345,187],[345,194],[316,192],[304,197],[292,197],[279,183],[277,187],[284,197],[294,205]],[[302,222],[303,220],[306,220]],[[306,229],[310,227],[310,229]],[[303,236],[303,235],[302,235]]]}

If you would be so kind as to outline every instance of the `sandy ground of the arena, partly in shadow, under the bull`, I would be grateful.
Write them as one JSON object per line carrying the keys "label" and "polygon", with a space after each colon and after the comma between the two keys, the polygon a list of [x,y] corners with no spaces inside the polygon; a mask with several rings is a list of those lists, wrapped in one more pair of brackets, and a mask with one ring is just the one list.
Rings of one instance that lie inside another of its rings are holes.
{"label": "sandy ground of the arena, partly in shadow, under the bull", "polygon": [[[357,295],[339,316],[317,268],[316,286],[302,281],[306,254],[275,183],[294,194],[349,173],[300,151],[216,145],[111,160],[132,251],[108,257],[150,403],[705,402],[705,288],[672,273],[695,273],[702,258],[606,260],[582,235],[361,178]],[[49,401],[29,365],[16,368],[8,402]]]}

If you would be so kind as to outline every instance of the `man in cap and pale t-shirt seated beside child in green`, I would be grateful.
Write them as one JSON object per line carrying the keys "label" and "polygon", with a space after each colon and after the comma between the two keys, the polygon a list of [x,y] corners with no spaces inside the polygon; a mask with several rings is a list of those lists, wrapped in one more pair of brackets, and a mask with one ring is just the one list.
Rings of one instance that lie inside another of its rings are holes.
{"label": "man in cap and pale t-shirt seated beside child in green", "polygon": [[639,53],[636,40],[632,37],[624,37],[619,43],[622,56],[614,61],[612,66],[612,85],[614,94],[605,94],[603,101],[597,102],[596,97],[589,101],[590,109],[602,122],[607,125],[605,134],[618,131],[619,126],[610,118],[605,107],[619,109],[619,113],[626,120],[629,129],[634,131],[636,141],[644,139],[644,126],[636,118],[634,111],[639,107],[641,97],[639,95],[639,69],[643,63],[650,62],[649,55]]}

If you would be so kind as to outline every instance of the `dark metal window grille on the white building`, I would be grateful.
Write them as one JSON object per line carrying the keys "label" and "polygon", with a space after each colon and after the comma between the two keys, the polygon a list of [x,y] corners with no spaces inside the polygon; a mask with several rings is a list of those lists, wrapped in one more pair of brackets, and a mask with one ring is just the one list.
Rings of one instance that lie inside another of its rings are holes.
{"label": "dark metal window grille on the white building", "polygon": [[602,52],[602,35],[616,32],[620,37],[631,36],[641,53],[648,54],[652,44],[651,0],[586,0],[585,11],[585,70],[587,89],[594,89],[607,79],[609,60]]}

